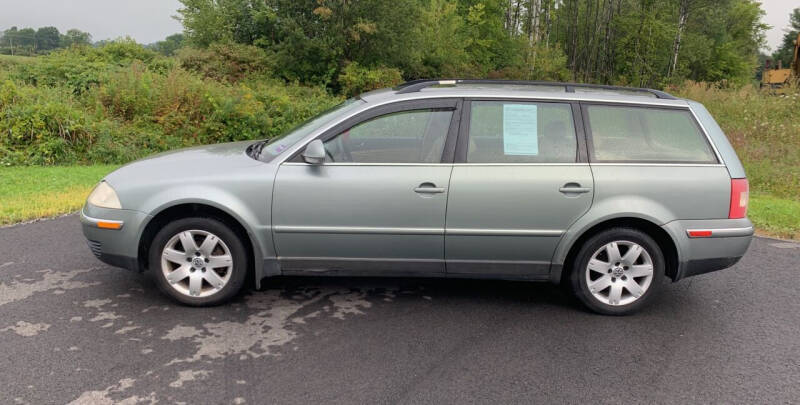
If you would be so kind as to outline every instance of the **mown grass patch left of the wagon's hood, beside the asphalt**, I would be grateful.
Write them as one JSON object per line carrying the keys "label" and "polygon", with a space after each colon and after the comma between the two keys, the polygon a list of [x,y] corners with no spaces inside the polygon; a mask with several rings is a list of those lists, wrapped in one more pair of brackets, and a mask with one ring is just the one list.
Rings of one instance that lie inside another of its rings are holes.
{"label": "mown grass patch left of the wagon's hood, beside the asphalt", "polygon": [[94,185],[117,167],[0,167],[0,225],[76,211]]}

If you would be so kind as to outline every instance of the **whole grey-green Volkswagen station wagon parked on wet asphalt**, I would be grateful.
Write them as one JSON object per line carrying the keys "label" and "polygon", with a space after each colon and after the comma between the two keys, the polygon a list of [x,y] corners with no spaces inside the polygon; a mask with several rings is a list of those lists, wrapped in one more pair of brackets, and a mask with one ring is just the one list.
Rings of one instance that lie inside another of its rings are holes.
{"label": "whole grey-green Volkswagen station wagon parked on wet asphalt", "polygon": [[189,305],[278,275],[565,283],[626,314],[735,264],[753,227],[699,103],[634,88],[420,80],[268,141],[131,163],[81,213],[102,261]]}

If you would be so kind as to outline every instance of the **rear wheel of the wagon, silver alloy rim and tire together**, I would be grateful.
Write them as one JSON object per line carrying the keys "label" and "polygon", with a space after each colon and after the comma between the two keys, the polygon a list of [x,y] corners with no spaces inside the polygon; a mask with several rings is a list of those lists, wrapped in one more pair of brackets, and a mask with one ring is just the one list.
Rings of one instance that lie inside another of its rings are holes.
{"label": "rear wheel of the wagon, silver alloy rim and tire together", "polygon": [[664,255],[653,238],[632,228],[608,229],[578,251],[572,289],[589,309],[627,315],[652,300],[664,277]]}

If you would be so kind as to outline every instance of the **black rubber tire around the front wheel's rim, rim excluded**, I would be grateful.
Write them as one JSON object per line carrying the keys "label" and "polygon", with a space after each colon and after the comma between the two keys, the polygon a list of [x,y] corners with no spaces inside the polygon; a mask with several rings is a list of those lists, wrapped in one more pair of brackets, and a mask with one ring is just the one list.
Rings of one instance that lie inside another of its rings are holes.
{"label": "black rubber tire around the front wheel's rim, rim excluded", "polygon": [[[219,291],[205,297],[191,297],[174,289],[161,268],[161,255],[167,242],[175,235],[188,230],[209,232],[219,237],[230,250],[233,265],[230,279]],[[158,288],[170,298],[185,305],[205,307],[222,304],[235,297],[244,286],[249,258],[241,237],[229,226],[213,218],[183,218],[168,223],[153,238],[149,252],[149,268]]]}

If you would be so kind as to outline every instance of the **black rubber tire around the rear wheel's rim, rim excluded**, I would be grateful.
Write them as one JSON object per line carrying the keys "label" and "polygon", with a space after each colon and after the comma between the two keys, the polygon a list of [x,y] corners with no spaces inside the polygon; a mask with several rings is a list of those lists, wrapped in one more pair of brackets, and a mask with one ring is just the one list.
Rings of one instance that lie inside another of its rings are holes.
{"label": "black rubber tire around the rear wheel's rim, rim excluded", "polygon": [[[615,241],[630,241],[640,245],[649,254],[653,264],[653,277],[647,289],[638,298],[633,298],[629,294],[629,297],[635,300],[623,305],[609,305],[595,297],[590,291],[586,280],[586,272],[588,272],[587,268],[592,256],[606,244]],[[653,300],[653,297],[657,295],[663,284],[664,275],[664,254],[653,238],[633,228],[611,228],[592,236],[583,244],[573,261],[573,268],[570,272],[570,285],[578,300],[590,310],[603,315],[629,315]]]}

